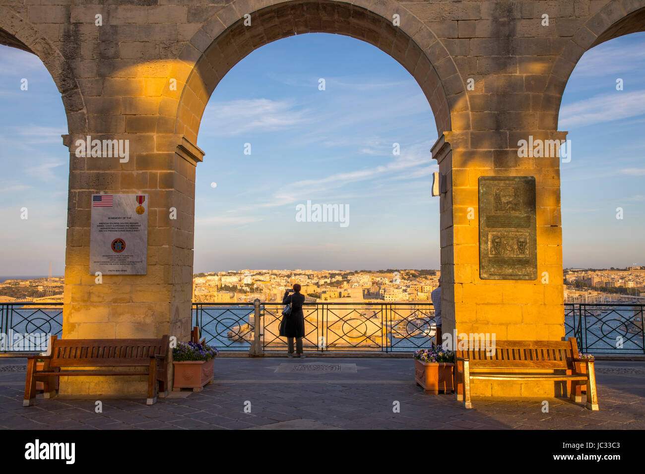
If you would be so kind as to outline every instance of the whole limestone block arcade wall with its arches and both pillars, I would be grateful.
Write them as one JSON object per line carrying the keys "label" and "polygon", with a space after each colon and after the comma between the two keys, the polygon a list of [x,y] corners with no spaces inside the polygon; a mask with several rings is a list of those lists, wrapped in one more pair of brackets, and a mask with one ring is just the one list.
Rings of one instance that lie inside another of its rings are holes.
{"label": "whole limestone block arcade wall with its arches and both pillars", "polygon": [[[518,141],[566,139],[557,117],[581,55],[644,29],[645,0],[3,2],[0,43],[41,58],[68,117],[63,337],[188,339],[195,172],[203,159],[195,143],[208,98],[255,48],[328,32],[392,55],[432,107],[439,133],[432,155],[448,183],[441,197],[444,331],[560,339],[560,160],[519,157]],[[75,141],[88,135],[128,140],[128,161],[75,156]],[[573,153],[575,159],[575,144]],[[535,176],[537,281],[479,278],[482,175]],[[90,195],[97,192],[148,194],[146,275],[104,275],[97,284],[89,274]],[[85,381],[65,386],[68,393],[97,390]],[[110,382],[101,390],[134,390],[118,386]],[[502,393],[527,394],[522,388]]]}

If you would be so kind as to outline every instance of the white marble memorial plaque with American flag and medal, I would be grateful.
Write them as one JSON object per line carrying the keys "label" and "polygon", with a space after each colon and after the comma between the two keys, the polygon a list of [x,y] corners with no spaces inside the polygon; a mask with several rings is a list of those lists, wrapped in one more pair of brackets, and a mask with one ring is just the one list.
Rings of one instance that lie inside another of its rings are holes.
{"label": "white marble memorial plaque with American flag and medal", "polygon": [[145,275],[148,195],[93,194],[90,274]]}

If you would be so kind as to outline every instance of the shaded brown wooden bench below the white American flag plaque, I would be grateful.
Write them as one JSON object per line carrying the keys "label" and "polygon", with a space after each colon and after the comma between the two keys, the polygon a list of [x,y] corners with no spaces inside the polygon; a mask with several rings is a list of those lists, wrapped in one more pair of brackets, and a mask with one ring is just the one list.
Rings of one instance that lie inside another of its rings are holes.
{"label": "shaded brown wooden bench below the white American flag plaque", "polygon": [[[95,375],[147,375],[148,405],[168,394],[168,336],[161,339],[58,339],[51,336],[49,355],[30,355],[27,360],[25,400],[35,398],[36,382],[43,382],[45,398],[55,395],[56,377]],[[36,370],[36,360],[43,359],[43,370]],[[105,370],[61,370],[68,367],[105,367]],[[144,367],[145,371],[117,371],[114,367]],[[157,384],[158,382],[158,384]]]}

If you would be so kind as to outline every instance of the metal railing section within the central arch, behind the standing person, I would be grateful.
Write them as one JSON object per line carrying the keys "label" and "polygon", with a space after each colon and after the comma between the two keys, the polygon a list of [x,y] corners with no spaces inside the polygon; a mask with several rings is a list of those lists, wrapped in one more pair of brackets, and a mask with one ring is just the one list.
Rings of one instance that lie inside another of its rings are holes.
{"label": "metal railing section within the central arch, behind the standing person", "polygon": [[[259,335],[264,351],[284,350],[279,335],[283,304],[261,303]],[[252,304],[195,303],[194,322],[208,344],[247,351],[255,334]],[[429,347],[434,310],[427,303],[305,303],[303,348],[315,351],[414,351]]]}

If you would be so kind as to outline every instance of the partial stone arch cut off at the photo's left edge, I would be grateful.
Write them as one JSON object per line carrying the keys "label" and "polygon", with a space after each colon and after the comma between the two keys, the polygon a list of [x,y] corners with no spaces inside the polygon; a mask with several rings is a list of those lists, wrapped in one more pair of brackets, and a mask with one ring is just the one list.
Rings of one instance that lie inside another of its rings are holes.
{"label": "partial stone arch cut off at the photo's left edge", "polygon": [[83,95],[70,64],[61,52],[34,25],[5,6],[0,6],[0,44],[30,52],[43,61],[61,93],[68,133],[84,135],[88,126]]}

